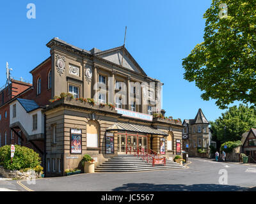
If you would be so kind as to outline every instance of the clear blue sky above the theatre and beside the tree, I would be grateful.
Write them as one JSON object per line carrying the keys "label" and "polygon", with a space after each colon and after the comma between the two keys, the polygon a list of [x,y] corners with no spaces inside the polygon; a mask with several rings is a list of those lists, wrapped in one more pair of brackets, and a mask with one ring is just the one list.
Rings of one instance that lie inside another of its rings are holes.
{"label": "clear blue sky above the theatre and beside the tree", "polygon": [[[36,6],[36,18],[26,17],[28,3]],[[203,41],[203,14],[211,0],[159,1],[4,1],[0,8],[0,84],[5,64],[12,77],[31,82],[29,73],[49,57],[45,45],[54,37],[76,47],[106,50],[124,43],[148,76],[164,83],[166,116],[193,119],[202,108],[208,120],[224,110],[215,101],[203,101],[195,83],[183,78],[182,58]]]}

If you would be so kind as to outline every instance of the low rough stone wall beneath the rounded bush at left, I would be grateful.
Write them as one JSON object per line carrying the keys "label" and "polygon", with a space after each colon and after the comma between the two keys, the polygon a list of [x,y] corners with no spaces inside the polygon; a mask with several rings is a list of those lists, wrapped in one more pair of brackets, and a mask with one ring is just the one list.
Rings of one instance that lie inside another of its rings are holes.
{"label": "low rough stone wall beneath the rounded bush at left", "polygon": [[0,175],[8,179],[38,179],[41,178],[41,173],[36,173],[35,170],[5,170],[3,166],[0,166]]}

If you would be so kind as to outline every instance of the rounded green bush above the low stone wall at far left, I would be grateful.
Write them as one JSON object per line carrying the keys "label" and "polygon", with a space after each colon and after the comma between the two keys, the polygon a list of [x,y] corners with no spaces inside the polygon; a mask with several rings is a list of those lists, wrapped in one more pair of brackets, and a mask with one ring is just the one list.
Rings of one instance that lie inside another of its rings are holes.
{"label": "rounded green bush above the low stone wall at far left", "polygon": [[15,145],[15,153],[11,161],[11,145],[5,145],[0,147],[0,163],[6,170],[34,169],[40,166],[41,158],[33,149]]}

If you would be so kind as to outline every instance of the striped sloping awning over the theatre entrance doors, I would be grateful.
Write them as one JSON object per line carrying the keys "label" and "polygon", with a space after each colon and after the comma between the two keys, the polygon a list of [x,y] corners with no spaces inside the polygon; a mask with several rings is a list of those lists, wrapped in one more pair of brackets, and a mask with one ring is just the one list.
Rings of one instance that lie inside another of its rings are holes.
{"label": "striped sloping awning over the theatre entrance doors", "polygon": [[167,136],[167,133],[164,133],[162,131],[159,131],[156,128],[152,128],[149,126],[140,126],[136,124],[129,124],[124,122],[117,122],[113,126],[106,129],[106,131],[129,131],[129,132],[135,132],[135,133],[146,133],[146,134],[153,134],[153,135],[164,135]]}

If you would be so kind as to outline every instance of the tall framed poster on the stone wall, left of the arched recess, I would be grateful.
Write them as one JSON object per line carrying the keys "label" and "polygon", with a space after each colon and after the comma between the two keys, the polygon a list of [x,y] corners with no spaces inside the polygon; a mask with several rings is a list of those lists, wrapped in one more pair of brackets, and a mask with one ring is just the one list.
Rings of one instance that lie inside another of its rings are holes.
{"label": "tall framed poster on the stone wall, left of the arched recess", "polygon": [[70,130],[70,153],[82,154],[82,130],[81,129]]}

